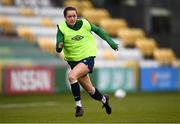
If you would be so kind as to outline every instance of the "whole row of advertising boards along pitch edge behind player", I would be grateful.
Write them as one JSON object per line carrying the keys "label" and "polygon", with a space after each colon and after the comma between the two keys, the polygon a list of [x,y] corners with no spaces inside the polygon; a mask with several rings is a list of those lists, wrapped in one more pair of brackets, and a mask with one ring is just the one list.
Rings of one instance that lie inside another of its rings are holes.
{"label": "whole row of advertising boards along pitch edge behind player", "polygon": [[[0,94],[52,94],[69,92],[67,66],[3,66],[0,68]],[[90,74],[103,92],[174,92],[180,90],[180,67],[96,67]],[[138,77],[136,77],[139,75]],[[137,83],[139,78],[139,83]]]}

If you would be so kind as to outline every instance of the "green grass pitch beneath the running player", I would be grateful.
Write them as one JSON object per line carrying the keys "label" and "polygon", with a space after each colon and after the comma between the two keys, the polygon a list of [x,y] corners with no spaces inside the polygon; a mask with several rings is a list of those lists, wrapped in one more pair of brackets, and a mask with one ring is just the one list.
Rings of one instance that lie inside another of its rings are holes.
{"label": "green grass pitch beneath the running player", "polygon": [[[85,113],[80,118],[74,117],[71,94],[0,96],[0,122],[180,122],[180,93],[131,93],[121,100],[110,96],[112,114],[107,115],[100,102],[83,93]],[[46,105],[49,102],[50,105]],[[37,106],[28,106],[31,103]],[[22,104],[27,106],[20,106]],[[14,106],[8,108],[8,105]]]}

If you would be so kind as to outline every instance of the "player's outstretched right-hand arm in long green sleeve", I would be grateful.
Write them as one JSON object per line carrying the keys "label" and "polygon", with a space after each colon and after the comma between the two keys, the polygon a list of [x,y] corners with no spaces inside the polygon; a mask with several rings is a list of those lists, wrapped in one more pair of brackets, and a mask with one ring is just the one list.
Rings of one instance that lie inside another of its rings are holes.
{"label": "player's outstretched right-hand arm in long green sleeve", "polygon": [[112,49],[118,50],[118,44],[115,43],[103,29],[97,27],[94,24],[91,24],[91,31],[95,32],[99,37],[105,40],[111,46]]}

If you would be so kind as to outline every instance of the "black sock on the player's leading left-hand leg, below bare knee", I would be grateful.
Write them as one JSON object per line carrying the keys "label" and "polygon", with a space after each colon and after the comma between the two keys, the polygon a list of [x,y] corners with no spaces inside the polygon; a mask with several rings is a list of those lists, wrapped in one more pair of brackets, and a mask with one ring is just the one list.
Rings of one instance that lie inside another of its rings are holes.
{"label": "black sock on the player's leading left-hand leg, below bare knee", "polygon": [[78,82],[71,84],[71,91],[72,91],[75,101],[81,100],[80,86],[79,86]]}

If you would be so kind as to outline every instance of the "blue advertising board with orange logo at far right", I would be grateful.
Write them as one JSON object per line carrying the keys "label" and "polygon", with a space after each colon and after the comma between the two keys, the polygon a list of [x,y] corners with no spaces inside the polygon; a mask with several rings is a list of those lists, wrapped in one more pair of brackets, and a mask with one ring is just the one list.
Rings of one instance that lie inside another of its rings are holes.
{"label": "blue advertising board with orange logo at far right", "polygon": [[178,85],[178,68],[141,68],[140,82],[141,91],[176,91]]}

